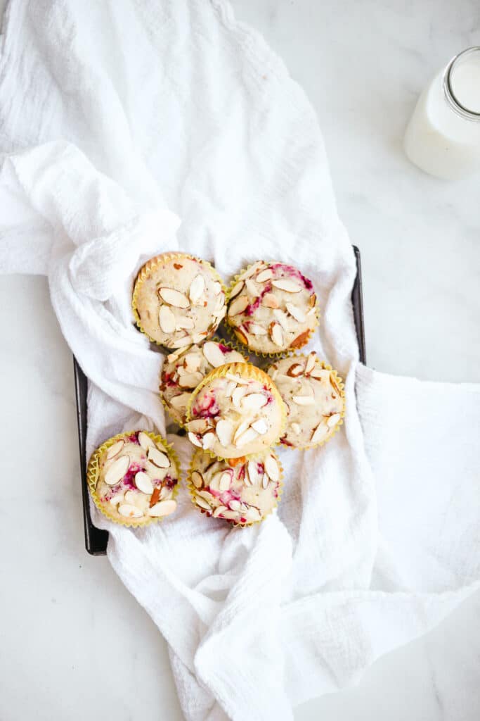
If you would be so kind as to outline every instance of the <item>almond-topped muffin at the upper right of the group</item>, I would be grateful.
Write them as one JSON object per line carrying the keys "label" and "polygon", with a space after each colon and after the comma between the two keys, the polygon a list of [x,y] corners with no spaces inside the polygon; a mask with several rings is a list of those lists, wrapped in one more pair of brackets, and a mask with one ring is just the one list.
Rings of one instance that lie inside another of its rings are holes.
{"label": "almond-topped muffin at the upper right of the group", "polygon": [[255,353],[302,348],[317,322],[312,281],[293,265],[258,260],[235,278],[227,324]]}

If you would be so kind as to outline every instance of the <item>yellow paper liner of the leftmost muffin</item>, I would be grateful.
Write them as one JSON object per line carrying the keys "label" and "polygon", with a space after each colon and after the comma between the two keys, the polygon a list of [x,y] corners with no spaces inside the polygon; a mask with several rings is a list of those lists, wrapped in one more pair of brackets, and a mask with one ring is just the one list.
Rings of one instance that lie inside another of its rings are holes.
{"label": "yellow paper liner of the leftmost muffin", "polygon": [[[139,430],[142,429],[140,428]],[[119,441],[121,438],[126,438],[133,433],[138,433],[139,430],[129,430],[125,431],[125,433],[117,433],[117,435],[114,435],[113,438],[109,438],[108,441],[102,443],[101,446],[96,448],[93,454],[91,454],[89,465],[87,466],[86,470],[87,484],[89,486],[90,495],[92,497],[92,500],[94,501],[94,504],[96,505],[96,508],[98,508],[99,511],[109,519],[109,521],[113,521],[113,523],[117,523],[119,526],[126,526],[127,528],[144,528],[145,526],[150,526],[150,523],[157,523],[158,521],[162,521],[163,518],[166,518],[166,516],[160,516],[157,518],[155,518],[154,516],[148,516],[148,518],[125,518],[124,520],[120,520],[119,518],[117,518],[117,516],[109,513],[107,503],[102,502],[98,495],[96,495],[96,482],[99,477],[99,459],[101,454],[103,454],[104,451],[107,450],[107,448],[113,446],[114,443],[117,443],[117,441]],[[175,465],[178,483],[173,486],[172,489],[171,500],[173,500],[178,495],[178,486],[181,482],[181,468],[180,463],[178,462],[178,456],[173,449],[173,446],[171,446],[170,443],[167,443],[167,441],[165,440],[165,438],[163,438],[162,435],[155,435],[155,433],[152,433],[149,430],[143,430],[143,433],[146,433],[146,435],[150,436],[150,438],[152,438],[155,443],[159,443],[160,446],[164,448],[168,458]]]}

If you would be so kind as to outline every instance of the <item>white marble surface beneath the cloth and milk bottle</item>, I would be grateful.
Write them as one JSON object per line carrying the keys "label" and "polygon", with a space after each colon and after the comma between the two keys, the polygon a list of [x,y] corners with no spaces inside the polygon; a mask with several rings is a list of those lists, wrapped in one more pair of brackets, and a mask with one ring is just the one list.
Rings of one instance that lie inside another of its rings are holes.
{"label": "white marble surface beneath the cloth and milk bottle", "polygon": [[[477,0],[234,7],[320,116],[340,213],[362,252],[369,363],[479,381],[478,179],[427,177],[401,149],[429,76],[480,44]],[[0,718],[181,719],[166,645],[107,560],[83,550],[72,361],[45,279],[0,278],[0,328],[3,446],[22,448],[20,466],[4,454],[4,475],[20,470],[27,484],[22,495],[9,484],[0,506]],[[478,720],[479,622],[476,596],[356,688],[304,704],[296,718]]]}

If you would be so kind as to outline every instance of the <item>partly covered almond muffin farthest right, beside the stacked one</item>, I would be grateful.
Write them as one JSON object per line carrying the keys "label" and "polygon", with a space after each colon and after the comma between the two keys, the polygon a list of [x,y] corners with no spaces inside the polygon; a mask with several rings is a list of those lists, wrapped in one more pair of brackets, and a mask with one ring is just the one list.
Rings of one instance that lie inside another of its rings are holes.
{"label": "partly covered almond muffin farthest right, beside the stacked one", "polygon": [[282,358],[268,368],[286,405],[286,428],[281,443],[311,448],[325,443],[345,415],[343,383],[316,353]]}

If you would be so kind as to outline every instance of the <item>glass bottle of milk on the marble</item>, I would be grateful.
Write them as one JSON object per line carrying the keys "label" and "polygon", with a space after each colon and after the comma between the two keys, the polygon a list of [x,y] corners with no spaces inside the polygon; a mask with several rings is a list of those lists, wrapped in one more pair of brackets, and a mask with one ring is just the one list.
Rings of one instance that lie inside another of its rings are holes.
{"label": "glass bottle of milk on the marble", "polygon": [[480,171],[480,45],[459,53],[422,92],[404,149],[412,163],[438,177]]}

